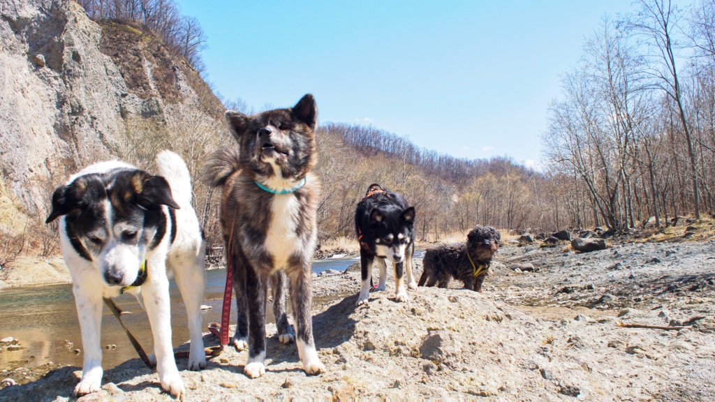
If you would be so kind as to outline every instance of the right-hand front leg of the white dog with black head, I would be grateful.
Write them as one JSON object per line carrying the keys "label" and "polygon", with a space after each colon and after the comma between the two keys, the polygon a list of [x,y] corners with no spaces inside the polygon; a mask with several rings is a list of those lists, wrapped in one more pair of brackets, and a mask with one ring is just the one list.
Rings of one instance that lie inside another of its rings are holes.
{"label": "right-hand front leg of the white dog with black head", "polygon": [[149,260],[147,265],[152,267],[152,270],[149,270],[147,281],[142,285],[142,294],[154,335],[154,356],[157,358],[159,382],[164,391],[175,398],[183,398],[186,390],[174,361],[172,347],[171,303],[166,266],[163,261],[152,260]]}

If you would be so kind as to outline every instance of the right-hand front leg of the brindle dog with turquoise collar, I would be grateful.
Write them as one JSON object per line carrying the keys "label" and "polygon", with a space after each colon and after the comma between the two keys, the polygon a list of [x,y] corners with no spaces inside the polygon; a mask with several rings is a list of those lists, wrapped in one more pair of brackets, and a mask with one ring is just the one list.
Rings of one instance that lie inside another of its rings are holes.
{"label": "right-hand front leg of the brindle dog with turquoise collar", "polygon": [[[295,267],[288,273],[290,279],[290,302],[295,316],[295,343],[298,346],[298,356],[303,363],[303,370],[308,375],[325,371],[325,365],[315,350],[312,336],[312,278],[310,278],[310,263],[304,267]],[[368,280],[369,282],[369,280]]]}

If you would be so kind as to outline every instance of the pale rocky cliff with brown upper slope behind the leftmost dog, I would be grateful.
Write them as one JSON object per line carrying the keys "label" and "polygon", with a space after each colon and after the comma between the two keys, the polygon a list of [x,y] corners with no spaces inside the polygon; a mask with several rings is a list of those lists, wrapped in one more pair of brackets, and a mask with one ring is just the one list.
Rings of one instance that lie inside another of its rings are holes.
{"label": "pale rocky cliff with brown upper slope behind the leftmost dog", "polygon": [[0,0],[5,210],[42,217],[70,172],[123,157],[139,125],[161,131],[187,105],[207,119],[221,109],[199,74],[149,32],[92,21],[73,1]]}

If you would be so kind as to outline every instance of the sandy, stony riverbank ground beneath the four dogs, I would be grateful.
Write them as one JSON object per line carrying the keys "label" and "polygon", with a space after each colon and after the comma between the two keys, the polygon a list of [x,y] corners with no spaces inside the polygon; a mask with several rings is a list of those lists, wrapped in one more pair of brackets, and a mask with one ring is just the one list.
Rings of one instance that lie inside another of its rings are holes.
{"label": "sandy, stony riverbank ground beneath the four dogs", "polygon": [[[247,353],[228,349],[204,371],[181,371],[186,400],[715,400],[715,242],[680,240],[583,254],[507,245],[483,294],[455,283],[410,290],[408,303],[395,303],[388,275],[387,291],[356,307],[359,270],[328,272],[314,280],[325,373],[306,376],[295,344],[279,343],[269,325],[265,376],[247,378]],[[510,268],[517,263],[536,272]],[[204,340],[217,344],[212,335]],[[70,400],[80,373],[52,366],[0,373],[21,383],[1,389],[0,401]],[[101,393],[80,400],[170,399],[139,359],[105,371],[102,383]]]}

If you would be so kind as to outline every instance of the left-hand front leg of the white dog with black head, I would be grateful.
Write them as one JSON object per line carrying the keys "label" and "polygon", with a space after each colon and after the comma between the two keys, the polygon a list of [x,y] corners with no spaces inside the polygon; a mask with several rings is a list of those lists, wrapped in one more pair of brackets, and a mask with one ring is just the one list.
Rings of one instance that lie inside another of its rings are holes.
{"label": "left-hand front leg of the white dog with black head", "polygon": [[[97,278],[94,278],[97,276]],[[82,331],[84,364],[82,379],[74,387],[74,396],[87,395],[99,391],[102,387],[102,345],[100,332],[102,326],[102,291],[104,283],[98,275],[84,275],[74,278],[72,293],[77,305],[79,328]]]}

